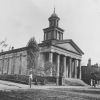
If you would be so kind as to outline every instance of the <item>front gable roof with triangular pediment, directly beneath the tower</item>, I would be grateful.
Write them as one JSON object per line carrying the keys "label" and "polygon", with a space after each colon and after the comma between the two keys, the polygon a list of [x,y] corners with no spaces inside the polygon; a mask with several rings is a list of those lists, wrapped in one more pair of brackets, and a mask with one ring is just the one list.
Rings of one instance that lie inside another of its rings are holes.
{"label": "front gable roof with triangular pediment, directly beneath the tower", "polygon": [[80,55],[83,55],[84,52],[74,43],[72,39],[66,39],[66,40],[47,40],[43,41],[42,43],[39,44],[40,47],[44,46],[55,46],[57,48],[70,51],[73,53],[77,53]]}

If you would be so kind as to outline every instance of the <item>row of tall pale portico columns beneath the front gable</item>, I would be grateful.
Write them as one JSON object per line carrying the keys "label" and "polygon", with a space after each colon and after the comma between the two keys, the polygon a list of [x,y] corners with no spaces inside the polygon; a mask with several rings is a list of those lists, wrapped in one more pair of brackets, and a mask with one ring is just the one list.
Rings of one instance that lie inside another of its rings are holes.
{"label": "row of tall pale portico columns beneath the front gable", "polygon": [[[48,52],[49,62],[56,64],[57,66],[57,76],[62,76],[64,78],[79,78],[81,79],[81,60],[75,59],[70,56],[65,56],[57,54],[55,52]],[[56,56],[55,56],[56,55]],[[56,62],[54,62],[54,56]],[[79,72],[77,69],[80,69]],[[80,74],[77,74],[80,73]],[[53,73],[52,73],[53,74]]]}

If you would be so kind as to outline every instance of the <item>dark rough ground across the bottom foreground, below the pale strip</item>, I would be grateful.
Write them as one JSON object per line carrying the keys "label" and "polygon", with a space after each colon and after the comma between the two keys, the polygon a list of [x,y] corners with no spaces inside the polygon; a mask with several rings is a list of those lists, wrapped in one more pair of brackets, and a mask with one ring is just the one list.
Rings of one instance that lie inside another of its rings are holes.
{"label": "dark rough ground across the bottom foreground, below the pale strip", "polygon": [[0,91],[0,100],[100,100],[100,98],[80,95],[79,91],[75,94],[75,91],[72,90],[69,92],[69,90],[62,91],[61,89],[22,89],[16,91]]}

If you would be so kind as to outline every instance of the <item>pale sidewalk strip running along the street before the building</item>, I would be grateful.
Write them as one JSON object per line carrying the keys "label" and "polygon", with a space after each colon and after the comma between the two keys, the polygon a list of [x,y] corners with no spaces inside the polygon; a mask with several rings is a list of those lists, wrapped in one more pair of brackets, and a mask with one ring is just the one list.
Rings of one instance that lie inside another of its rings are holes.
{"label": "pale sidewalk strip running along the street before the building", "polygon": [[[96,90],[100,91],[100,86],[93,88],[91,86],[45,86],[45,85],[32,85],[31,89],[80,89],[80,90]],[[5,89],[30,89],[29,85],[13,83],[9,81],[0,80],[0,90]]]}

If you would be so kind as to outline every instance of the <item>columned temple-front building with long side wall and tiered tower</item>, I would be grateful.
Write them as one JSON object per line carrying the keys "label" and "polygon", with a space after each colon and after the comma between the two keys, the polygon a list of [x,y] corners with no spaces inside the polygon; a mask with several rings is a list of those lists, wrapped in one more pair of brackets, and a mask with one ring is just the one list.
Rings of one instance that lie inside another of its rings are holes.
{"label": "columned temple-front building with long side wall and tiered tower", "polygon": [[[55,11],[49,17],[49,27],[43,29],[44,40],[39,44],[40,62],[51,62],[56,76],[81,79],[82,50],[71,39],[63,39],[64,30],[59,27],[60,18]],[[0,74],[28,75],[28,47],[0,53]],[[51,75],[52,76],[52,75]]]}

